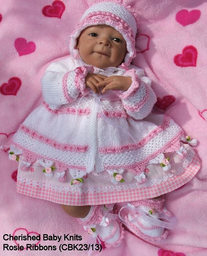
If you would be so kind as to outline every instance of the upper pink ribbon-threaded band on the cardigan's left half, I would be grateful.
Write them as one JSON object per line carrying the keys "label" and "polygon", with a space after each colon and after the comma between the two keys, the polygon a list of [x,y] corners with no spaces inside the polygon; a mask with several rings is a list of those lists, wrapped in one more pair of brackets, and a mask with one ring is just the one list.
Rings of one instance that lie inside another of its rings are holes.
{"label": "upper pink ribbon-threaded band on the cardigan's left half", "polygon": [[[44,107],[53,114],[76,114],[76,108],[60,108],[60,109],[51,109],[45,101],[43,101]],[[84,116],[90,114],[90,108],[78,108],[78,116]]]}

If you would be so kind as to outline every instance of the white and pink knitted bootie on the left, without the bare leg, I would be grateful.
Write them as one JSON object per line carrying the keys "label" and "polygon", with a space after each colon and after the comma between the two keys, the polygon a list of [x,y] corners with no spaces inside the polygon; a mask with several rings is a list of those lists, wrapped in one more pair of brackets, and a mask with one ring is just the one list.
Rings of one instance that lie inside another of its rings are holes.
{"label": "white and pink knitted bootie on the left, without the bare leg", "polygon": [[88,215],[85,218],[78,218],[78,222],[92,237],[98,236],[104,241],[107,248],[117,247],[124,237],[124,229],[117,220],[103,216],[104,207],[104,205],[91,205]]}

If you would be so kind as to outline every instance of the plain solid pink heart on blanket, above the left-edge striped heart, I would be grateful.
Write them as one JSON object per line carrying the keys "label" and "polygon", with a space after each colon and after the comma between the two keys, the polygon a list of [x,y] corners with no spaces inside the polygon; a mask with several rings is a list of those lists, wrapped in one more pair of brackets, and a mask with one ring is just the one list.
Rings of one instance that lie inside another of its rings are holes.
{"label": "plain solid pink heart on blanket, above the left-edge striped heart", "polygon": [[36,45],[34,42],[28,42],[25,38],[19,37],[15,40],[15,48],[19,56],[27,55],[35,51]]}

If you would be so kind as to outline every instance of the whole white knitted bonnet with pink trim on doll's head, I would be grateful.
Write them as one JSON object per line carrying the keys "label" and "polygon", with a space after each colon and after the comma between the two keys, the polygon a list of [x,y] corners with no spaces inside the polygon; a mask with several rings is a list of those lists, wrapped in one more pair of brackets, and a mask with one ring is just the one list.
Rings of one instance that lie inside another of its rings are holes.
{"label": "whole white knitted bonnet with pink trim on doll's head", "polygon": [[89,7],[81,17],[80,23],[69,39],[69,50],[72,57],[81,60],[79,50],[76,49],[77,38],[81,31],[92,25],[109,25],[122,34],[126,41],[127,53],[123,64],[130,65],[136,56],[135,36],[137,33],[138,18],[126,4],[103,1]]}

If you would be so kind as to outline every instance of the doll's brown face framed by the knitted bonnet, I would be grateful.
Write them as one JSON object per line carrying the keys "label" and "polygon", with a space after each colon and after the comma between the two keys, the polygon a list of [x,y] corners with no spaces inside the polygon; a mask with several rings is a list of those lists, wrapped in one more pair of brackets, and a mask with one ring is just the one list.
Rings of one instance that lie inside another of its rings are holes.
{"label": "doll's brown face framed by the knitted bonnet", "polygon": [[127,53],[123,36],[107,25],[85,28],[78,38],[76,48],[86,64],[97,68],[118,67]]}

